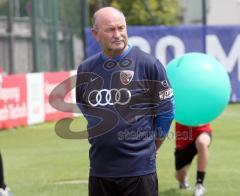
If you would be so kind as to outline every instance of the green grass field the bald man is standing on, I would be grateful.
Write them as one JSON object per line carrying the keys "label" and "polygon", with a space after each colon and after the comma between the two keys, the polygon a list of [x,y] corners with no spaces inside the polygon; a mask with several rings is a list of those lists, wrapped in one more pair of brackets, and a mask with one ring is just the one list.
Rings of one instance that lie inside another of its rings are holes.
{"label": "green grass field the bald man is standing on", "polygon": [[[73,127],[83,130],[77,119]],[[227,107],[213,123],[213,142],[205,185],[209,196],[240,195],[240,104]],[[54,123],[0,132],[5,178],[14,196],[87,196],[89,170],[87,140],[66,140]],[[191,195],[174,179],[174,139],[168,138],[157,159],[160,195]],[[196,162],[190,170],[195,181]]]}

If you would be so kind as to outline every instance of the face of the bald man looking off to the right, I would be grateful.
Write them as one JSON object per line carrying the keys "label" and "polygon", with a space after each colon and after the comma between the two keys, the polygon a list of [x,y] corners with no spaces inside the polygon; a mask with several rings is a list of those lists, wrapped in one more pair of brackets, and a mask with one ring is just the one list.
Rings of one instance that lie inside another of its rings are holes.
{"label": "face of the bald man looking off to the right", "polygon": [[128,42],[126,21],[122,15],[102,17],[98,20],[93,35],[106,55],[120,55]]}

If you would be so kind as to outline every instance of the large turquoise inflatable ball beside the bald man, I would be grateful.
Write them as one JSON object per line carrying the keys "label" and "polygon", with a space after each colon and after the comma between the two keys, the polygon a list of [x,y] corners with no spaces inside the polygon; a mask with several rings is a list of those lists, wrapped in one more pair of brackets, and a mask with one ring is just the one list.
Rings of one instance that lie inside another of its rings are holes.
{"label": "large turquoise inflatable ball beside the bald man", "polygon": [[166,68],[173,88],[175,120],[198,126],[217,118],[227,106],[231,85],[222,64],[203,53],[186,53]]}

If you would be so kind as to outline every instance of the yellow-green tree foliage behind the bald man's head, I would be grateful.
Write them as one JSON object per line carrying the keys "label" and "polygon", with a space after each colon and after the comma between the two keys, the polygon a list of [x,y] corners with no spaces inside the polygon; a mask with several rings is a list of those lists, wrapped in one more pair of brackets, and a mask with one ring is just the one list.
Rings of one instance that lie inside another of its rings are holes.
{"label": "yellow-green tree foliage behind the bald man's head", "polygon": [[178,0],[91,0],[91,17],[103,2],[122,10],[128,25],[175,25],[181,22]]}

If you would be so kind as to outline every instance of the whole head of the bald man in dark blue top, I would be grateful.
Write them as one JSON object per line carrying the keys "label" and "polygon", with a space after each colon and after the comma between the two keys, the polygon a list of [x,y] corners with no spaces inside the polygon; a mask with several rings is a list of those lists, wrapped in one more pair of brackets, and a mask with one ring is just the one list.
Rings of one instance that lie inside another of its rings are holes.
{"label": "whole head of the bald man in dark blue top", "polygon": [[126,20],[123,13],[113,7],[95,12],[92,33],[107,56],[115,57],[127,49]]}

